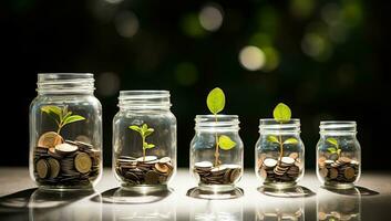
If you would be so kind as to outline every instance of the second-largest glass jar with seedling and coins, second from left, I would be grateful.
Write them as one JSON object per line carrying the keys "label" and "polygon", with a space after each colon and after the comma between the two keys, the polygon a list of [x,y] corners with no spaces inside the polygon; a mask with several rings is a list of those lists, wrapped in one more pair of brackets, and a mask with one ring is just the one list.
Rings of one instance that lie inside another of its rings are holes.
{"label": "second-largest glass jar with seedling and coins, second from left", "polygon": [[121,91],[113,170],[127,189],[162,190],[176,171],[176,118],[168,91]]}

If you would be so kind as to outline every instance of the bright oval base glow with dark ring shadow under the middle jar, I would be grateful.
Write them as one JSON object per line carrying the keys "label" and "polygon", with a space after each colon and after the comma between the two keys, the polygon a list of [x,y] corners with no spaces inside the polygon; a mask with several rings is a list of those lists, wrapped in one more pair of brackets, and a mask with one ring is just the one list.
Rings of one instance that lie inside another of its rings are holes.
{"label": "bright oval base glow with dark ring shadow under the middle jar", "polygon": [[197,199],[225,200],[240,198],[244,191],[234,185],[199,185],[189,189],[186,196]]}

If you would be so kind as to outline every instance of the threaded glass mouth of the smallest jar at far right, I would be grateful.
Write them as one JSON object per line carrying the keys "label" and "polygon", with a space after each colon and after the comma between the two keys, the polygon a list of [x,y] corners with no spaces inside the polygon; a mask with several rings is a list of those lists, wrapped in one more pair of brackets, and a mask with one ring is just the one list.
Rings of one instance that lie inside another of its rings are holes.
{"label": "threaded glass mouth of the smallest jar at far right", "polygon": [[322,120],[320,133],[357,133],[357,123],[353,120]]}

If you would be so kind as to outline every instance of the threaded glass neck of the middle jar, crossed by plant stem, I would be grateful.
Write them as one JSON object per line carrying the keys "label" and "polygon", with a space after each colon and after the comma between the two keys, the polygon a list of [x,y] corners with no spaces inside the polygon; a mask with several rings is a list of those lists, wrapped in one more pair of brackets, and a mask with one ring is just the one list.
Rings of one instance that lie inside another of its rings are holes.
{"label": "threaded glass neck of the middle jar, crossed by plant stem", "polygon": [[196,115],[195,130],[199,131],[238,131],[239,117],[237,115]]}

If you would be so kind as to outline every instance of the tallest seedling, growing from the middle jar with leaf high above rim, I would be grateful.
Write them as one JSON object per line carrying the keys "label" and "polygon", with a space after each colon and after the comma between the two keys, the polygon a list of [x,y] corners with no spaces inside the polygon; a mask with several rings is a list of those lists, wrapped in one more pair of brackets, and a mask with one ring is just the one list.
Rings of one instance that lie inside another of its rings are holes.
{"label": "tallest seedling, growing from the middle jar with leaf high above rim", "polygon": [[[206,104],[213,115],[215,115],[215,119],[217,123],[217,114],[224,109],[225,106],[225,95],[223,90],[216,87],[212,90],[206,98]],[[216,150],[215,150],[215,167],[218,167],[222,161],[219,160],[219,151],[218,149],[222,148],[223,150],[229,150],[236,146],[236,143],[231,140],[226,135],[215,134],[216,137]]]}

